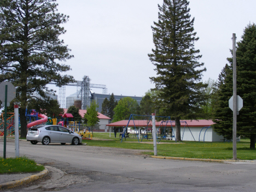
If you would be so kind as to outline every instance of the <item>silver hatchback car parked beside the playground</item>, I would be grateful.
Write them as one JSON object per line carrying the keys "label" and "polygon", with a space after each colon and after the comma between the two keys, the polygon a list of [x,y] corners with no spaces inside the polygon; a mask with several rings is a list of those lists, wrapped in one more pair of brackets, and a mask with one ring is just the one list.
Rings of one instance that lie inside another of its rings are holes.
{"label": "silver hatchback car parked beside the playground", "polygon": [[26,138],[32,144],[42,142],[42,144],[72,143],[77,145],[82,143],[82,137],[78,133],[58,125],[31,127],[28,129]]}

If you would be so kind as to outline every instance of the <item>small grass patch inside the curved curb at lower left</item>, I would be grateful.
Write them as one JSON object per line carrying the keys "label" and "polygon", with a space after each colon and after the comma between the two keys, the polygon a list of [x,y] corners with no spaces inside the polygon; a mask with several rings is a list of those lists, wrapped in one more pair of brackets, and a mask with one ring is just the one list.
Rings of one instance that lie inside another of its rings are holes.
{"label": "small grass patch inside the curved curb at lower left", "polygon": [[18,172],[38,172],[43,171],[44,166],[37,165],[34,160],[26,157],[19,158],[0,158],[0,174]]}

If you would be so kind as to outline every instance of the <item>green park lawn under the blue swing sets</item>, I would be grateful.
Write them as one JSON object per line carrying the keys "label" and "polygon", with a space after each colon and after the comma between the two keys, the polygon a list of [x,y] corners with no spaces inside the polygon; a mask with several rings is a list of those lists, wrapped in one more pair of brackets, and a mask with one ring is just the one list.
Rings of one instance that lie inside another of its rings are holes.
{"label": "green park lawn under the blue swing sets", "polygon": [[[114,133],[94,132],[95,139],[83,140],[88,146],[101,146],[101,147],[116,147],[125,149],[144,149],[151,150],[152,152],[145,152],[145,154],[154,155],[153,141],[143,139],[144,141],[152,142],[152,144],[138,143],[136,138],[126,138],[126,141],[120,142],[119,133],[117,138]],[[97,138],[104,139],[96,140]],[[141,141],[141,140],[140,140]],[[133,143],[130,143],[133,142]],[[201,158],[201,159],[232,159],[232,142],[177,142],[162,140],[158,144],[158,156],[174,156],[181,158]],[[256,150],[250,149],[250,140],[241,139],[237,142],[237,159],[238,160],[254,160],[256,159]]]}

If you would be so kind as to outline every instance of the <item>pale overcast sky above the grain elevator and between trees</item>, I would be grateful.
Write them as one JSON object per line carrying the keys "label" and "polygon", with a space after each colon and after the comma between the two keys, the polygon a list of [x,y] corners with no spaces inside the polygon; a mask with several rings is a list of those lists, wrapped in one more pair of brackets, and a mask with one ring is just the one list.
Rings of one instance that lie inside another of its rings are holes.
{"label": "pale overcast sky above the grain elevator and between trees", "polygon": [[[71,66],[75,80],[89,76],[91,84],[107,86],[108,94],[144,96],[154,88],[154,65],[148,54],[154,49],[151,26],[158,21],[158,4],[162,0],[57,0],[59,13],[69,15],[63,24],[64,40],[74,58],[64,64]],[[207,69],[202,81],[218,79],[231,57],[232,33],[241,40],[243,30],[256,22],[255,0],[190,0],[191,19],[199,40]],[[58,94],[59,88],[49,85]],[[66,86],[66,96],[77,88]],[[102,89],[92,88],[101,94]]]}

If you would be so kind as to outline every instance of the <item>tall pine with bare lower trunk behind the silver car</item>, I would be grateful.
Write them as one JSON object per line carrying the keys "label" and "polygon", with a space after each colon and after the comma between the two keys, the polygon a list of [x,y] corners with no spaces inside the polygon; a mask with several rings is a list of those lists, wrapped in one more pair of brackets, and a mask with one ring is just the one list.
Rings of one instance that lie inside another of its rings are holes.
{"label": "tall pine with bare lower trunk behind the silver car", "polygon": [[46,85],[73,82],[62,75],[70,67],[58,63],[71,59],[67,45],[59,37],[68,16],[57,13],[56,0],[0,1],[0,82],[16,86],[20,101],[21,137],[26,137],[26,106],[33,92],[45,96]]}

